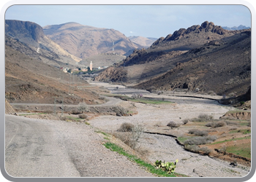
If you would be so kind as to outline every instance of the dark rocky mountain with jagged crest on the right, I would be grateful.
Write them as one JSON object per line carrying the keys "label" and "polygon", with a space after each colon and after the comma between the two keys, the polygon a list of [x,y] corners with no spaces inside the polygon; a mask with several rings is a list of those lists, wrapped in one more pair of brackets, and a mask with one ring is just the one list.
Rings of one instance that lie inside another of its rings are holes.
{"label": "dark rocky mountain with jagged crest on the right", "polygon": [[[240,95],[250,86],[250,52],[250,29],[227,31],[206,21],[161,37],[147,49],[135,50],[116,69],[108,68],[95,79],[144,90],[198,88],[218,95]],[[116,73],[117,68],[121,74]],[[111,69],[119,79],[111,76]]]}

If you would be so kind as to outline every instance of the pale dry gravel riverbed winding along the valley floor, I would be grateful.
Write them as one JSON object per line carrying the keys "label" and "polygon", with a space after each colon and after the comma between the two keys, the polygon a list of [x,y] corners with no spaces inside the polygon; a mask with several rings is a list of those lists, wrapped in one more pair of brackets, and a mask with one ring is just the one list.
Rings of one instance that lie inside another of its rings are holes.
{"label": "pale dry gravel riverbed winding along the valley floor", "polygon": [[[101,83],[101,86],[104,84]],[[115,90],[115,85],[106,84],[104,87],[108,87],[109,90],[112,88],[111,91],[114,93],[118,93],[119,91],[128,96],[132,92],[132,90],[125,90],[124,87],[120,86],[118,90]],[[124,90],[126,93],[124,93]],[[134,90],[134,92],[140,92],[140,90]],[[182,124],[183,119],[197,117],[200,114],[208,114],[214,116],[214,119],[219,119],[220,116],[233,109],[228,106],[219,105],[216,100],[181,98],[178,96],[154,95],[149,92],[142,92],[144,97],[164,97],[165,100],[170,100],[174,103],[166,105],[135,103],[134,106],[138,114],[121,117],[99,116],[90,120],[89,123],[105,132],[116,131],[124,122],[142,124],[146,131],[152,131],[157,126],[166,126],[170,121]],[[123,102],[121,104],[128,105],[132,103]],[[179,135],[178,128],[172,130],[172,132],[176,132],[176,136]],[[141,148],[148,150],[147,158],[152,163],[157,159],[165,162],[174,162],[178,159],[176,173],[182,173],[192,177],[243,177],[249,173],[249,167],[239,165],[238,167],[231,167],[230,162],[185,151],[182,146],[176,143],[175,138],[170,136],[143,133],[139,145]]]}

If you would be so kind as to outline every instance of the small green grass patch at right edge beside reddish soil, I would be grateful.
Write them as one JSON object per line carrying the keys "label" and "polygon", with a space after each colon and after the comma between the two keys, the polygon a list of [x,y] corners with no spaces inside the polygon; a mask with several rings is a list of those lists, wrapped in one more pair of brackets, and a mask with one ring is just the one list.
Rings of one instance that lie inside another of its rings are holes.
{"label": "small green grass patch at right edge beside reddish soil", "polygon": [[251,159],[251,144],[242,143],[236,146],[228,146],[227,152]]}

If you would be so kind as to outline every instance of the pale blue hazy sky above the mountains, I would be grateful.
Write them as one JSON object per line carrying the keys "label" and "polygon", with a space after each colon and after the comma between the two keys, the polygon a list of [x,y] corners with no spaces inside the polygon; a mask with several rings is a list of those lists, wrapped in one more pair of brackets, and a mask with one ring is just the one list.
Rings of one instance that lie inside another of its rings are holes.
{"label": "pale blue hazy sky above the mountains", "polygon": [[244,5],[13,5],[6,20],[31,21],[41,25],[76,22],[97,28],[113,28],[125,36],[159,38],[201,25],[251,27],[251,13]]}

